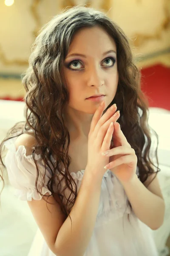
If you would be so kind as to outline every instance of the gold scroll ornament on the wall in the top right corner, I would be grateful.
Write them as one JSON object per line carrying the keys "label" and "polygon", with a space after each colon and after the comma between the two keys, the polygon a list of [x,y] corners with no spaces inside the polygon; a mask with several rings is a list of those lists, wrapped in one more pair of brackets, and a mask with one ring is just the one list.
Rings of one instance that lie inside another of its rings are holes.
{"label": "gold scroll ornament on the wall in the top right corner", "polygon": [[136,40],[133,42],[133,45],[135,47],[141,47],[143,44],[146,44],[147,41],[150,41],[150,40],[160,39],[162,31],[170,28],[170,12],[168,9],[169,9],[169,0],[164,0],[164,20],[162,21],[161,26],[152,35],[148,35],[144,33],[133,35],[134,37],[136,37]]}

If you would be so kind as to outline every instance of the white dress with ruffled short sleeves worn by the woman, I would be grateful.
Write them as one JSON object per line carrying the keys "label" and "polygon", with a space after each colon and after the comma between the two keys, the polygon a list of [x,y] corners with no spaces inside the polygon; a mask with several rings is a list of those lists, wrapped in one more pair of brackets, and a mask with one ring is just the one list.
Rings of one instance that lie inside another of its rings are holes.
{"label": "white dress with ruffled short sleeves worn by the woman", "polygon": [[[27,201],[31,201],[32,198],[40,200],[41,195],[36,192],[34,186],[37,172],[33,157],[26,156],[26,148],[23,145],[20,145],[16,151],[15,140],[16,138],[12,138],[5,143],[8,148],[5,165],[9,181],[16,189],[17,198]],[[40,155],[36,155],[36,159],[43,171]],[[50,178],[48,167],[47,170],[45,184]],[[77,192],[84,172],[85,170],[71,173],[77,184]],[[41,177],[38,180],[38,183],[40,182]],[[44,186],[42,193],[46,192],[51,194],[47,186]],[[122,184],[108,169],[102,179],[96,223],[84,256],[158,256],[152,230],[136,217],[127,204],[128,200]],[[55,256],[39,229],[28,256]]]}

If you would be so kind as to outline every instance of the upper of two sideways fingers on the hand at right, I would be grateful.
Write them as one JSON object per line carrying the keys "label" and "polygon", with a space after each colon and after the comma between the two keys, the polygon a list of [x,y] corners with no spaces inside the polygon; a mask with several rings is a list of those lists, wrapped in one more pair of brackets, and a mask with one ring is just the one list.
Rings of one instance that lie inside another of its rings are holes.
{"label": "upper of two sideways fingers on the hand at right", "polygon": [[119,147],[107,150],[105,152],[102,152],[102,155],[105,155],[107,157],[111,157],[111,156],[114,156],[114,155],[117,155],[117,154],[122,154],[122,155],[135,154],[135,150],[131,147],[119,146]]}

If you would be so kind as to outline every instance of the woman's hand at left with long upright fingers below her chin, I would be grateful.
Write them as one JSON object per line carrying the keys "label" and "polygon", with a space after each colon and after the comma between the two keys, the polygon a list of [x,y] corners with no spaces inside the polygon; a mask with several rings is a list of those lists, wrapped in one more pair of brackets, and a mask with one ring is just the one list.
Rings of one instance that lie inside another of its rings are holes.
{"label": "woman's hand at left with long upright fingers below her chin", "polygon": [[88,160],[85,172],[89,172],[93,177],[102,178],[106,172],[104,166],[109,163],[109,159],[102,157],[101,154],[103,151],[107,151],[111,145],[113,135],[111,122],[116,122],[120,115],[119,111],[116,112],[116,108],[116,105],[113,105],[102,115],[105,110],[105,102],[103,102],[103,105],[96,109],[92,118],[88,134]]}

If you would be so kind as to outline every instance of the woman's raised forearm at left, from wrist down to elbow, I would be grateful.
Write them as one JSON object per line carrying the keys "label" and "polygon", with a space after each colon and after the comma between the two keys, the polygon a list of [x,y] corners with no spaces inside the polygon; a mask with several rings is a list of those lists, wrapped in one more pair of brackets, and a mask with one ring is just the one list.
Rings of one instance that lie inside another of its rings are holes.
{"label": "woman's raised forearm at left, from wrist down to elbow", "polygon": [[59,256],[83,256],[91,239],[99,208],[102,178],[84,173],[70,216],[60,228],[55,246]]}

